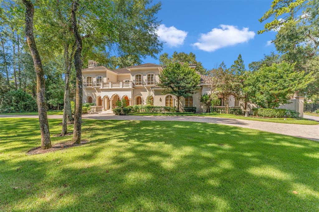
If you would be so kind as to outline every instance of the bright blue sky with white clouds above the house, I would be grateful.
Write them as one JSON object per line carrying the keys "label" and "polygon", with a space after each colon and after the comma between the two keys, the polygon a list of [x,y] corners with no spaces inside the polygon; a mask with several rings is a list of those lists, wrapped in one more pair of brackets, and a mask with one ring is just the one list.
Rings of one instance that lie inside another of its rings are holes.
{"label": "bright blue sky with white clouds above the house", "polygon": [[[257,34],[264,25],[258,19],[270,8],[271,1],[161,2],[157,17],[162,25],[158,35],[166,41],[161,53],[193,52],[197,61],[211,69],[221,61],[231,66],[239,53],[248,68],[251,61],[276,52],[273,44],[267,45],[276,32]],[[158,64],[159,60],[147,58],[144,62]]]}

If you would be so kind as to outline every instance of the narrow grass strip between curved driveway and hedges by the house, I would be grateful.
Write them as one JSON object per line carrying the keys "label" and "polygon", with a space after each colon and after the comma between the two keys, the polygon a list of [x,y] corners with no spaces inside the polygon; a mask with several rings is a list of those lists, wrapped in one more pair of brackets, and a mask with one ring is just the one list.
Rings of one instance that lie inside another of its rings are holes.
{"label": "narrow grass strip between curved driveway and hedges by the house", "polygon": [[245,117],[237,116],[232,114],[221,114],[221,113],[130,113],[131,116],[208,116],[208,117],[220,117],[220,118],[234,118],[234,119],[244,119],[252,121],[261,121],[261,122],[274,122],[274,123],[284,123],[284,124],[306,124],[306,125],[315,125],[319,122],[308,120],[306,118],[294,119],[294,118],[258,118],[258,117]]}

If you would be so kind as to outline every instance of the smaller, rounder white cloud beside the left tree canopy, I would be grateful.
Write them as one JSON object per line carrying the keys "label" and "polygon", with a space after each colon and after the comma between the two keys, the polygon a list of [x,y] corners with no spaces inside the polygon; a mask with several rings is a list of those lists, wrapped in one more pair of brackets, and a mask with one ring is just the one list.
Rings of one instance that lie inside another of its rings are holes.
{"label": "smaller, rounder white cloud beside the left tree canopy", "polygon": [[165,41],[168,46],[176,47],[184,43],[187,32],[176,29],[174,26],[166,27],[164,24],[159,25],[157,30],[159,40]]}

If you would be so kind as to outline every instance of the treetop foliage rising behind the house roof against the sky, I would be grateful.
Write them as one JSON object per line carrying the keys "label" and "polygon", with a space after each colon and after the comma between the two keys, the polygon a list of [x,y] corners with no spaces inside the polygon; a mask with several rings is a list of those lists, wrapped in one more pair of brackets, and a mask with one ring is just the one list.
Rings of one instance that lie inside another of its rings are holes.
{"label": "treetop foliage rising behind the house roof against the sky", "polygon": [[189,54],[176,51],[173,53],[172,57],[168,56],[168,53],[163,53],[159,56],[159,62],[163,66],[167,66],[170,63],[181,62],[181,63],[191,63],[196,64],[196,71],[201,74],[206,73],[206,69],[203,67],[202,63],[196,60],[196,55],[192,52]]}

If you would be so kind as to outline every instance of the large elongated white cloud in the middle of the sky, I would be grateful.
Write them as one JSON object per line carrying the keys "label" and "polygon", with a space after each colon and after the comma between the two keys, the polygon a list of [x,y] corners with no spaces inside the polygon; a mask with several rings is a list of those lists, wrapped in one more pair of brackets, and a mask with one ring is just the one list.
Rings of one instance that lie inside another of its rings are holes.
{"label": "large elongated white cloud in the middle of the sky", "polygon": [[240,30],[233,25],[219,26],[220,28],[213,28],[211,32],[201,34],[198,42],[192,45],[206,52],[213,52],[222,47],[248,42],[255,37],[255,32],[249,31],[248,27]]}

